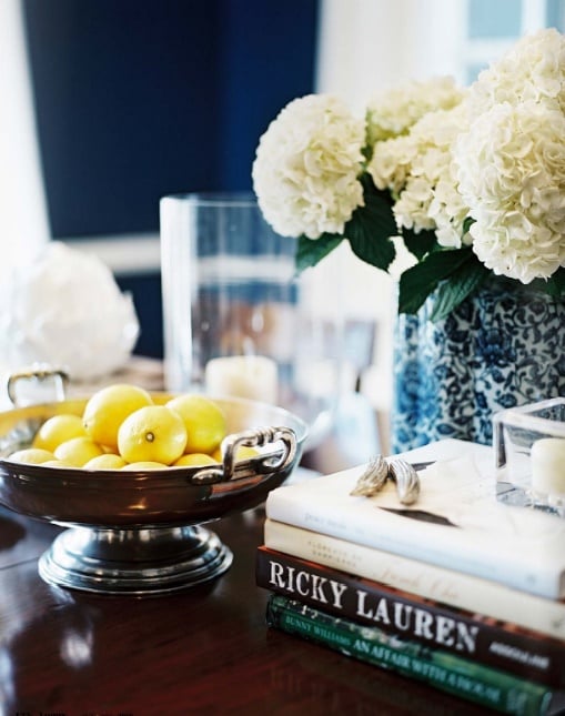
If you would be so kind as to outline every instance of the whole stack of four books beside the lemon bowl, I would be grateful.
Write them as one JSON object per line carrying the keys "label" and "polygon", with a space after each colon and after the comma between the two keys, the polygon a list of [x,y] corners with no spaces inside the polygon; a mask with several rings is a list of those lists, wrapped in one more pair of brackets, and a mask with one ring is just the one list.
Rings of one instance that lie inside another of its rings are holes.
{"label": "whole stack of four books beside the lemon bowl", "polygon": [[506,714],[565,713],[565,521],[498,503],[465,455],[352,496],[363,468],[266,501],[268,625]]}

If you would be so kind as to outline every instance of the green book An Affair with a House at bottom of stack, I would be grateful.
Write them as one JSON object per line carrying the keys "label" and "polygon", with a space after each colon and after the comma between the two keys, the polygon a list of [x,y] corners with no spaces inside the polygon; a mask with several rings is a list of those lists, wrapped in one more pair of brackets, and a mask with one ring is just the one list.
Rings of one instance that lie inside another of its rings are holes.
{"label": "green book An Affair with a House at bottom of stack", "polygon": [[270,596],[266,623],[503,714],[543,716],[553,699],[553,692],[541,684],[332,616],[282,595]]}

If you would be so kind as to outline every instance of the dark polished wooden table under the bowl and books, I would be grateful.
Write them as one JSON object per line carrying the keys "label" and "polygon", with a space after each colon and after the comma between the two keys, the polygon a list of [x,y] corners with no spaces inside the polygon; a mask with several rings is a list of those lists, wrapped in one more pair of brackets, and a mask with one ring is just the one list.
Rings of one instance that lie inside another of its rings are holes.
{"label": "dark polished wooden table under the bowl and books", "polygon": [[[335,445],[321,453],[343,467]],[[214,583],[140,599],[48,585],[37,559],[60,527],[0,507],[0,716],[485,713],[269,629],[254,583],[263,520],[259,507],[208,525],[234,553]]]}

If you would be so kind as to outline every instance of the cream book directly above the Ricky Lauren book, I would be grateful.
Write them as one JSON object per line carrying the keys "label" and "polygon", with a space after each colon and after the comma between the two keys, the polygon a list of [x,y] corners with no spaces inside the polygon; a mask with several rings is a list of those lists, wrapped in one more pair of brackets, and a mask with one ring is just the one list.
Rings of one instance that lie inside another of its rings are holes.
{"label": "cream book directly above the Ricky Lauren book", "polygon": [[302,559],[565,639],[565,602],[546,599],[391,552],[266,520],[264,544]]}

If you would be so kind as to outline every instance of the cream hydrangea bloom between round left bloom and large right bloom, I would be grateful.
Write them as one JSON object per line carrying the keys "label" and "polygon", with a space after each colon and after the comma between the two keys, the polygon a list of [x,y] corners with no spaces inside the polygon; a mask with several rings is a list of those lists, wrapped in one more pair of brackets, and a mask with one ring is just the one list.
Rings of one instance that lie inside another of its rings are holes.
{"label": "cream hydrangea bloom between round left bloom and large right bloom", "polygon": [[375,185],[397,196],[394,214],[400,228],[436,230],[441,245],[458,248],[468,214],[451,172],[451,147],[467,128],[466,110],[428,112],[410,133],[375,147],[369,171]]}

